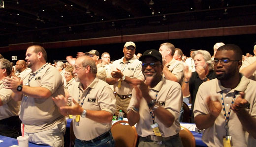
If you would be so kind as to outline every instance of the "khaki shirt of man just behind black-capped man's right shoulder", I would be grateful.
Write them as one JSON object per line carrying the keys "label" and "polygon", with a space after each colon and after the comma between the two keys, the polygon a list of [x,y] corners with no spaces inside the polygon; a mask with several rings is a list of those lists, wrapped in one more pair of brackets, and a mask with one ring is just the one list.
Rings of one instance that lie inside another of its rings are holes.
{"label": "khaki shirt of man just behind black-capped man's right shoulder", "polygon": [[166,66],[167,69],[176,76],[178,83],[181,85],[184,77],[184,65],[183,62],[175,60],[174,58]]}

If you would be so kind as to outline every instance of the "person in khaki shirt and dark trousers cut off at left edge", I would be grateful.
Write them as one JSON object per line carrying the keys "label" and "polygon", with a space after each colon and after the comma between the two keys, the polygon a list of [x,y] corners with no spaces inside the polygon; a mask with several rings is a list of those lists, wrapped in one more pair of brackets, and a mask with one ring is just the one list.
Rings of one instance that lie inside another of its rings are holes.
{"label": "person in khaki shirt and dark trousers cut off at left edge", "polygon": [[2,80],[11,71],[10,61],[0,59],[0,135],[17,138],[21,135],[21,121],[18,116],[20,102],[11,98],[12,91],[4,88]]}

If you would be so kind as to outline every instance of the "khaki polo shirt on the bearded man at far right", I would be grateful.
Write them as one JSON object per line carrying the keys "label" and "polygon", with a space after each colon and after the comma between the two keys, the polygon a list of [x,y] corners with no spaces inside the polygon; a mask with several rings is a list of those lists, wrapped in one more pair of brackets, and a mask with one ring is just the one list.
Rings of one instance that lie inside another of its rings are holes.
{"label": "khaki polo shirt on the bearded man at far right", "polygon": [[[245,99],[251,103],[249,114],[256,118],[256,81],[242,76],[240,83],[234,89],[228,89],[221,85],[221,82],[215,78],[200,85],[194,104],[194,117],[198,115],[209,114],[205,100],[210,95],[221,94],[223,92],[226,115],[230,104],[235,95],[235,91],[245,92]],[[239,95],[236,96],[236,98]],[[221,97],[218,98],[221,102]],[[208,147],[223,147],[223,137],[225,136],[225,119],[223,109],[215,120],[213,126],[204,130],[202,141]],[[228,134],[232,136],[233,147],[255,147],[256,139],[243,129],[237,115],[231,110],[228,122]]]}

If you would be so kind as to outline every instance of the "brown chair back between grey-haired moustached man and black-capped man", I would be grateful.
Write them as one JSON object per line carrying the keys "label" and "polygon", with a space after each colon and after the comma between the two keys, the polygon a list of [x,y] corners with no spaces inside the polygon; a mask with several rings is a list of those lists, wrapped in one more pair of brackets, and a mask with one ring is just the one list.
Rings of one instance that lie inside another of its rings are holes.
{"label": "brown chair back between grey-haired moustached man and black-capped man", "polygon": [[[125,123],[125,124],[124,124]],[[115,147],[135,147],[137,143],[137,131],[127,121],[118,121],[112,125],[112,136],[115,140]]]}

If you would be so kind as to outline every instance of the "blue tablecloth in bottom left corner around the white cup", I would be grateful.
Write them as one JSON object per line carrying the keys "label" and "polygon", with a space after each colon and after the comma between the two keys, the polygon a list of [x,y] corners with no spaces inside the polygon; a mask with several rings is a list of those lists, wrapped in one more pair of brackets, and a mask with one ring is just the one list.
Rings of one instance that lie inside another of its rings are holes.
{"label": "blue tablecloth in bottom left corner around the white cup", "polygon": [[[0,135],[0,140],[3,142],[0,143],[0,147],[10,147],[13,145],[18,145],[17,139],[5,137]],[[44,145],[36,145],[29,142],[29,147],[50,147],[50,146],[44,146]]]}

